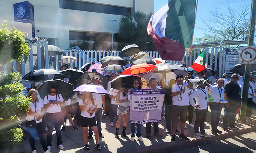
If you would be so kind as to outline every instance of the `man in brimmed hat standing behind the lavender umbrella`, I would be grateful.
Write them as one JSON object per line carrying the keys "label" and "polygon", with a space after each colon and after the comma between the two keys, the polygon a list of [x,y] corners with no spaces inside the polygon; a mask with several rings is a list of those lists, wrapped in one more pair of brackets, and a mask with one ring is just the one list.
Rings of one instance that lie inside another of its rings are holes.
{"label": "man in brimmed hat standing behind the lavender umbrella", "polygon": [[[102,82],[100,80],[99,75],[94,75],[93,78],[91,78],[92,84],[95,86],[101,86],[99,82]],[[103,87],[104,88],[104,87]],[[104,138],[104,135],[101,133],[101,120],[102,120],[102,111],[105,111],[105,94],[96,94],[92,93],[93,98],[95,99],[95,105],[97,105],[98,110],[95,112],[95,119],[97,120],[97,126],[99,131],[99,137]],[[89,139],[93,138],[93,130],[89,127]]]}

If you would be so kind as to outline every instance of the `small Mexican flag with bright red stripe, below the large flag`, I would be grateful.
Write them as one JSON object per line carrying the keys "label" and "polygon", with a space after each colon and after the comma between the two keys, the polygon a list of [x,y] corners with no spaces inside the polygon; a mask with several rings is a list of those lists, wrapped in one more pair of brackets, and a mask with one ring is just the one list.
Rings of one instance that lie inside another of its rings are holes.
{"label": "small Mexican flag with bright red stripe, below the large flag", "polygon": [[[195,56],[195,55],[194,55]],[[195,60],[194,64],[191,65],[191,68],[197,72],[201,72],[207,68],[206,59],[204,56],[204,50],[203,52],[198,56],[198,58]]]}

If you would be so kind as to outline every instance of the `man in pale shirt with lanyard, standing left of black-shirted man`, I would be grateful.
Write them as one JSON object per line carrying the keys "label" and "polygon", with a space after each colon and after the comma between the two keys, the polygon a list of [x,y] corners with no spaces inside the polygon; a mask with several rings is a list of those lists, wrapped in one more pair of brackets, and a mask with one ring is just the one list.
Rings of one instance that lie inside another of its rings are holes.
{"label": "man in pale shirt with lanyard, standing left of black-shirted man", "polygon": [[221,101],[224,101],[224,79],[219,78],[217,81],[217,85],[214,85],[210,88],[210,93],[213,102],[210,103],[211,109],[211,131],[214,136],[218,136],[218,133],[222,133],[222,131],[218,130],[219,117],[221,116]]}

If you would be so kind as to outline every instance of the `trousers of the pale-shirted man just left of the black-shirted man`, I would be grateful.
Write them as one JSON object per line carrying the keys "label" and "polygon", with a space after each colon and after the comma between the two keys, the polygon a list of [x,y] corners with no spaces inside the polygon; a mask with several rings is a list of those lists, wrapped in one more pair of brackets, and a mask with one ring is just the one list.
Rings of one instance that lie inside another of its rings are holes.
{"label": "trousers of the pale-shirted man just left of the black-shirted man", "polygon": [[211,102],[210,109],[211,109],[211,130],[213,132],[216,132],[219,124],[219,117],[221,116],[221,103]]}

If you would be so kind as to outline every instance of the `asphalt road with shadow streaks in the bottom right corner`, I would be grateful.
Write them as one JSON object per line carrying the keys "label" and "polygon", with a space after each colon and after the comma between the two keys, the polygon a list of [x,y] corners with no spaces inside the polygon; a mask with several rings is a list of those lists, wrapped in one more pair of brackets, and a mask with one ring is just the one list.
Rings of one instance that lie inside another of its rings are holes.
{"label": "asphalt road with shadow streaks in the bottom right corner", "polygon": [[[214,141],[199,144],[190,148],[178,149],[172,153],[254,153],[256,152],[256,132],[243,134],[227,138],[220,141]],[[169,153],[169,152],[166,152]]]}

